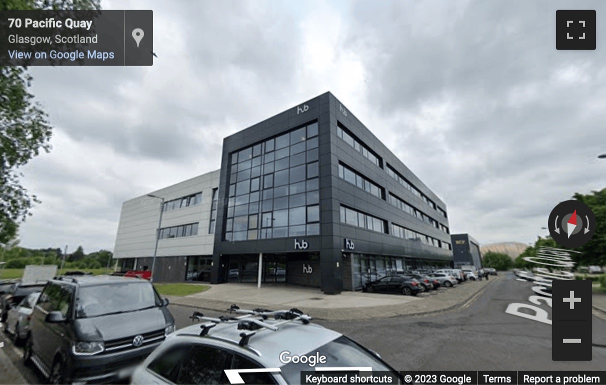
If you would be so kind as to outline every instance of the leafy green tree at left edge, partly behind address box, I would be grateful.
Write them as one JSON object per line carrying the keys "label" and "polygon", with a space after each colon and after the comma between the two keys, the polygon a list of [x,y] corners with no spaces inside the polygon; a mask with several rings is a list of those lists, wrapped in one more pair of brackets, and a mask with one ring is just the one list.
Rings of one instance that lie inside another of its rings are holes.
{"label": "leafy green tree at left edge, partly behind address box", "polygon": [[[4,10],[88,10],[100,0],[2,0]],[[51,150],[52,127],[30,93],[27,67],[0,67],[0,243],[16,235],[33,204],[40,203],[21,186],[19,167],[41,151]]]}

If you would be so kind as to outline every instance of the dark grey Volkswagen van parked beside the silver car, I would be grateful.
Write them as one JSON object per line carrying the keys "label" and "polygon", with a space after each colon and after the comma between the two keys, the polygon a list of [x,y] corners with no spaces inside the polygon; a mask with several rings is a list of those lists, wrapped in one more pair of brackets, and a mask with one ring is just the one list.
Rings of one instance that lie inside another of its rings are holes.
{"label": "dark grey Volkswagen van parked beside the silver car", "polygon": [[57,277],[34,307],[24,361],[52,384],[125,381],[175,331],[167,305],[147,280]]}

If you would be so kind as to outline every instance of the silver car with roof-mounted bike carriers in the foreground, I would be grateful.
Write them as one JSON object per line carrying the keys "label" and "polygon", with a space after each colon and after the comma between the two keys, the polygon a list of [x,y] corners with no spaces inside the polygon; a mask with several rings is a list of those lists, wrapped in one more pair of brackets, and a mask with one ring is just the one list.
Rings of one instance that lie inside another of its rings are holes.
{"label": "silver car with roof-mounted bike carriers in the foreground", "polygon": [[[384,277],[387,278],[387,277]],[[300,310],[207,318],[178,330],[133,373],[131,384],[301,384],[301,372],[328,367],[370,367],[390,372],[379,355],[335,330],[311,323]],[[313,361],[313,366],[311,363]],[[273,372],[226,373],[225,369],[278,368]],[[233,378],[227,376],[231,374]]]}

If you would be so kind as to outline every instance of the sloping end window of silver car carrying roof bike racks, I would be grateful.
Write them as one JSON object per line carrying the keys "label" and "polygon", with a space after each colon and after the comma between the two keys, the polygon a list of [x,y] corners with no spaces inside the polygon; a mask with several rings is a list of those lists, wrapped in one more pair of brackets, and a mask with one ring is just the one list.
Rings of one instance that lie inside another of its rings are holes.
{"label": "sloping end window of silver car carrying roof bike racks", "polygon": [[372,352],[364,349],[346,336],[340,336],[324,346],[306,353],[306,356],[316,355],[326,357],[325,363],[316,363],[311,367],[308,363],[287,363],[280,368],[282,376],[288,384],[301,384],[301,372],[313,372],[316,367],[372,367],[373,372],[391,372],[393,369]]}

